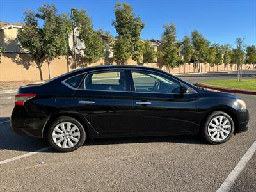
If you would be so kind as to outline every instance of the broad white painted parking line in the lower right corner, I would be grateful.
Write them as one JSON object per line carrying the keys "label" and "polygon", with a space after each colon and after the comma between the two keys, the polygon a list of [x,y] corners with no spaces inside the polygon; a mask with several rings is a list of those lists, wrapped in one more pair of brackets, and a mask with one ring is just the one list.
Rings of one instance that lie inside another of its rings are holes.
{"label": "broad white painted parking line in the lower right corner", "polygon": [[224,180],[223,184],[221,184],[217,192],[227,192],[230,190],[230,188],[236,181],[239,174],[243,171],[248,161],[252,158],[255,151],[256,151],[256,141],[254,141],[251,147],[247,150],[246,154],[244,154],[244,156],[240,159],[240,161],[235,166],[234,170],[232,170],[232,172],[229,173],[227,179]]}

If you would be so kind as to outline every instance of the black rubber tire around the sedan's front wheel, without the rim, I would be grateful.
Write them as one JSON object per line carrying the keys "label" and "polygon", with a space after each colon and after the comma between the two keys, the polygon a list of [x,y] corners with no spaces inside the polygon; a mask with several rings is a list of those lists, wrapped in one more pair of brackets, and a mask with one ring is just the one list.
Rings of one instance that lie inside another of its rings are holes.
{"label": "black rubber tire around the sedan's front wheel, without the rim", "polygon": [[[225,118],[227,118],[229,120],[230,125],[231,125],[230,133],[223,140],[213,140],[211,138],[211,136],[209,135],[209,132],[208,132],[208,126],[209,126],[211,120],[213,120],[217,116],[224,116]],[[200,133],[201,133],[202,138],[204,138],[204,140],[207,141],[208,143],[220,144],[220,143],[225,143],[226,141],[228,141],[232,137],[232,135],[234,134],[234,129],[235,129],[234,121],[232,120],[232,118],[227,113],[225,113],[223,111],[214,111],[203,122]]]}

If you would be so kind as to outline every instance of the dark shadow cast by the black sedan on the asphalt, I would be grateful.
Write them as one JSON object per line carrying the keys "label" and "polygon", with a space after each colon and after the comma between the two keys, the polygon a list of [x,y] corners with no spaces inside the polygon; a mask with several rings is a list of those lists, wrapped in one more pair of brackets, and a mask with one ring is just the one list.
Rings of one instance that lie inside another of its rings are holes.
{"label": "dark shadow cast by the black sedan on the asphalt", "polygon": [[[8,121],[8,122],[6,122]],[[35,150],[49,147],[46,139],[30,138],[14,134],[10,129],[10,118],[0,118],[0,152],[1,150],[33,152]],[[205,145],[199,136],[146,136],[146,137],[127,137],[127,138],[97,138],[87,140],[84,146],[90,145],[118,145],[129,143],[186,143]],[[56,152],[53,149],[44,152]]]}

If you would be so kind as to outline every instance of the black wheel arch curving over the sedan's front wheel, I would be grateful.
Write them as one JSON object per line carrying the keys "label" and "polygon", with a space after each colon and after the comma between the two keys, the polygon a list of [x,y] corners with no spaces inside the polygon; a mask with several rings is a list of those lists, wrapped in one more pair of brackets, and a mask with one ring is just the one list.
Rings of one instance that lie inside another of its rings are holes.
{"label": "black wheel arch curving over the sedan's front wheel", "polygon": [[202,130],[202,126],[204,125],[205,120],[207,119],[207,117],[209,115],[211,115],[211,113],[213,113],[214,111],[222,111],[224,113],[227,113],[232,118],[232,120],[234,122],[234,125],[235,125],[234,134],[236,134],[237,133],[237,127],[238,127],[238,118],[236,116],[235,109],[230,108],[230,106],[216,106],[216,107],[211,108],[208,111],[206,111],[206,113],[202,117],[202,120],[201,120],[201,123],[200,123],[200,130]]}

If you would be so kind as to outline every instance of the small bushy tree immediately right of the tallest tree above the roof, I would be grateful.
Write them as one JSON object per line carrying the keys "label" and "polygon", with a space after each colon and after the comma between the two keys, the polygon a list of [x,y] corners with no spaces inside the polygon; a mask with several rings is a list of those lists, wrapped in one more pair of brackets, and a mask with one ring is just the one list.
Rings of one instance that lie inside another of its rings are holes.
{"label": "small bushy tree immediately right of the tallest tree above the roof", "polygon": [[152,47],[150,40],[143,42],[143,63],[154,63],[157,54]]}

